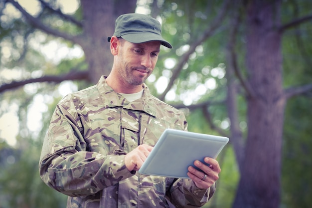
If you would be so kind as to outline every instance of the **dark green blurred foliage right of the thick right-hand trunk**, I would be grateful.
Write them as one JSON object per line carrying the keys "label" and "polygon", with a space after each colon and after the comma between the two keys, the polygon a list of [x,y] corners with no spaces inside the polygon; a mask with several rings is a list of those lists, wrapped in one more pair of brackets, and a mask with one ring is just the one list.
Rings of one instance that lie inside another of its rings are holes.
{"label": "dark green blurred foliage right of the thick right-hand trunk", "polygon": [[[284,22],[311,15],[312,2],[291,0],[282,4]],[[285,87],[311,83],[311,21],[283,36]],[[312,93],[292,98],[285,110],[281,208],[310,208],[312,204]]]}

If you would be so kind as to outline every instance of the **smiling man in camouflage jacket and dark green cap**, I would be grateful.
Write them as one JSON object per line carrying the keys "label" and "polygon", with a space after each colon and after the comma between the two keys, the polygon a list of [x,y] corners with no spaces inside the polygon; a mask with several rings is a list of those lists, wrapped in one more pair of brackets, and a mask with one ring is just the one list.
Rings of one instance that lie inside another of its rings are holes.
{"label": "smiling man in camouflage jacket and dark green cap", "polygon": [[40,176],[68,195],[67,208],[203,206],[215,191],[220,167],[206,158],[188,168],[190,179],[141,175],[166,128],[187,130],[183,113],[151,95],[160,23],[143,14],[116,19],[109,38],[114,64],[98,84],[64,97],[52,116],[40,158]]}

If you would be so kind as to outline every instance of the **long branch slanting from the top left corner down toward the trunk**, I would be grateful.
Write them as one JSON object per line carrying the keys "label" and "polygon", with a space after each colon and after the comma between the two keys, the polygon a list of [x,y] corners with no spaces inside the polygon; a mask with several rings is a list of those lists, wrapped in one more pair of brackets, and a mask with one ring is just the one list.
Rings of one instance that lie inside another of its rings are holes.
{"label": "long branch slanting from the top left corner down toward the trunk", "polygon": [[48,34],[52,34],[56,37],[62,37],[64,39],[73,41],[77,44],[80,43],[80,38],[78,36],[69,35],[67,33],[60,32],[58,30],[52,29],[52,28],[44,25],[38,18],[33,17],[27,11],[25,11],[25,9],[23,9],[17,1],[6,0],[6,2],[10,2],[11,4],[13,4],[24,15],[26,20],[29,21],[29,23],[32,24],[34,27],[41,29],[42,31],[44,31]]}

